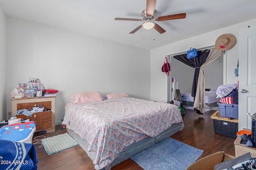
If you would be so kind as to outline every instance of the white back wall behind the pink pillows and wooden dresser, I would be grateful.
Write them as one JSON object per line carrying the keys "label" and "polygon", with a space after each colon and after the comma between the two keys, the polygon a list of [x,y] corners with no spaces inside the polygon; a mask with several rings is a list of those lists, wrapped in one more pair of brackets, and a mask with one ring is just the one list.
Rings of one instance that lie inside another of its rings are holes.
{"label": "white back wall behind the pink pillows and wooden dresser", "polygon": [[76,92],[124,92],[150,100],[150,50],[7,18],[7,111],[20,80],[59,90],[56,122]]}

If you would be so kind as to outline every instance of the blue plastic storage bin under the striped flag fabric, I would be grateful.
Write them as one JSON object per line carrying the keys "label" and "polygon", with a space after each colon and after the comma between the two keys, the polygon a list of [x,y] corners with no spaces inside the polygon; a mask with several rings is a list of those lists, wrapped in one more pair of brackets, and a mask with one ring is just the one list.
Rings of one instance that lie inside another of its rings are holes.
{"label": "blue plastic storage bin under the striped flag fabric", "polygon": [[238,104],[224,104],[218,102],[220,116],[238,119]]}

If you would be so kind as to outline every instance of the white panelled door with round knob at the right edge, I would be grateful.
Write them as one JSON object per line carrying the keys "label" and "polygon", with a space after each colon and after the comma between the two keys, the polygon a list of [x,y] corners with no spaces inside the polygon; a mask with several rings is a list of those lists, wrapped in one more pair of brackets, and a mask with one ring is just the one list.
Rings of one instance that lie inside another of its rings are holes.
{"label": "white panelled door with round knob at the right edge", "polygon": [[241,28],[238,39],[239,93],[238,131],[251,129],[252,119],[246,113],[256,112],[256,25]]}

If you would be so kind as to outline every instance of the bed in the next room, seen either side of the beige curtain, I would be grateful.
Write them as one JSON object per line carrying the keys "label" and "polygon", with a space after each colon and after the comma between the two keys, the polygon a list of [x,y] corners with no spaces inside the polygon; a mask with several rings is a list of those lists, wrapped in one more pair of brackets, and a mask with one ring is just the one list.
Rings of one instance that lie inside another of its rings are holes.
{"label": "bed in the next room, seen either side of the beige curtain", "polygon": [[[191,92],[181,93],[182,103],[186,106],[194,106],[194,97],[191,96]],[[220,98],[217,98],[216,90],[205,91],[205,105],[207,109],[215,109],[217,102]]]}

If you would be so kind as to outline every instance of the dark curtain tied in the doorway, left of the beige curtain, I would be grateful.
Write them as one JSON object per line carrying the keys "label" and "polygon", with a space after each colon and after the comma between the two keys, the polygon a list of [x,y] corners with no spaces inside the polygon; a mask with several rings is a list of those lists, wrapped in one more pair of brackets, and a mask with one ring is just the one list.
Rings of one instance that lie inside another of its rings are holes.
{"label": "dark curtain tied in the doorway, left of the beige curtain", "polygon": [[202,66],[202,64],[205,63],[209,53],[210,53],[210,50],[197,51],[197,57],[194,57],[191,59],[187,58],[187,54],[175,55],[173,57],[174,59],[177,59],[178,61],[181,61],[182,63],[195,68],[194,80],[192,85],[192,94],[191,94],[191,96],[193,97],[196,96],[196,88],[197,88],[197,81],[198,81],[200,67]]}

